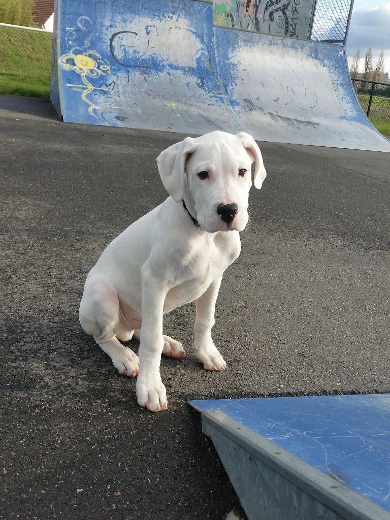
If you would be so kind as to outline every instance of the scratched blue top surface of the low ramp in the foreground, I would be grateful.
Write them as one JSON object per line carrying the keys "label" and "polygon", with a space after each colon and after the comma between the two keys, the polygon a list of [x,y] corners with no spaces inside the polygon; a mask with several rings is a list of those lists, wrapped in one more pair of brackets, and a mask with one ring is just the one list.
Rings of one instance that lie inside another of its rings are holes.
{"label": "scratched blue top surface of the low ramp in the foreground", "polygon": [[390,394],[197,400],[390,511]]}

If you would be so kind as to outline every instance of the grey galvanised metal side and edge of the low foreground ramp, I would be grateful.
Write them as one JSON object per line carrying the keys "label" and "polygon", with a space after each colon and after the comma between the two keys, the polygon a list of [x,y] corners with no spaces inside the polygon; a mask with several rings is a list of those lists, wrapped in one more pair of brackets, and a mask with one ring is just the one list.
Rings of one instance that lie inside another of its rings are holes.
{"label": "grey galvanised metal side and edge of the low foreground ramp", "polygon": [[380,506],[219,410],[202,412],[202,431],[249,520],[390,520]]}

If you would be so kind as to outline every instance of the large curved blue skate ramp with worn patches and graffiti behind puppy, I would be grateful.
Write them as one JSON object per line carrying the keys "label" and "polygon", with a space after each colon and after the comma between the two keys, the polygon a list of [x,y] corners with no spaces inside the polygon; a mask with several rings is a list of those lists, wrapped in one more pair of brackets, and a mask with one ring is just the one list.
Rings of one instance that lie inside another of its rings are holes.
{"label": "large curved blue skate ramp with worn patches and graffiti behind puppy", "polygon": [[58,0],[52,99],[64,121],[390,151],[342,45],[213,25],[213,4]]}

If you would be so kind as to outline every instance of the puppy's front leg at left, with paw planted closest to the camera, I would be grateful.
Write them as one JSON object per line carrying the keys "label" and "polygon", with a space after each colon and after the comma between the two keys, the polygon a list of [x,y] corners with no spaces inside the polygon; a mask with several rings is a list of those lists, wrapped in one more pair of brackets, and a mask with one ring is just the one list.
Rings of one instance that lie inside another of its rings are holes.
{"label": "puppy's front leg at left, with paw planted closest to the camera", "polygon": [[165,386],[160,376],[161,353],[164,348],[163,308],[167,288],[161,278],[145,265],[142,279],[142,326],[139,345],[140,368],[136,391],[138,404],[152,412],[166,410]]}

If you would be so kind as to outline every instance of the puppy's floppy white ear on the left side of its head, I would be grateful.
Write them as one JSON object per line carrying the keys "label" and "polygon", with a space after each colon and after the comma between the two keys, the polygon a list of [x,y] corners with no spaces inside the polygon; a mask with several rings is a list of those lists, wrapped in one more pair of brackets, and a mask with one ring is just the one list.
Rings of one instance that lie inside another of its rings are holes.
{"label": "puppy's floppy white ear on the left side of its head", "polygon": [[196,142],[192,137],[186,137],[184,141],[177,142],[161,152],[157,158],[157,166],[164,188],[176,202],[180,202],[184,196],[186,159],[196,148]]}

